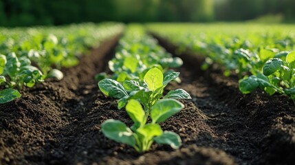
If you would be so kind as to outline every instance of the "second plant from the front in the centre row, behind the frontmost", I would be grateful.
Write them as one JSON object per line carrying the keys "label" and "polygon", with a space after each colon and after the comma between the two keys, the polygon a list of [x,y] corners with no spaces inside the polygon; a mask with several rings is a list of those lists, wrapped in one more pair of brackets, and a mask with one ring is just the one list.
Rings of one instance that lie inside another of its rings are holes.
{"label": "second plant from the front in the centre row, behind the frontmost", "polygon": [[[146,114],[149,115],[153,104],[162,98],[164,87],[178,76],[179,72],[172,72],[164,76],[160,69],[154,67],[146,72],[143,83],[136,80],[125,80],[120,84],[116,80],[105,78],[98,83],[98,87],[106,96],[119,99],[118,109],[122,109],[128,100],[136,99],[142,103]],[[176,89],[169,91],[164,98],[190,99],[190,95],[184,89]]]}

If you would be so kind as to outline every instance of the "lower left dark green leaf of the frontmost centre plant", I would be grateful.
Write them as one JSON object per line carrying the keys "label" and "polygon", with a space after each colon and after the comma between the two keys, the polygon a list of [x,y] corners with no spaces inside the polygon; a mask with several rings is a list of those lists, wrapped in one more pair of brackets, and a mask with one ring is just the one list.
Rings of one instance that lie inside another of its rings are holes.
{"label": "lower left dark green leaf of the frontmost centre plant", "polygon": [[107,120],[102,123],[102,133],[111,140],[135,146],[133,132],[124,122],[119,120]]}

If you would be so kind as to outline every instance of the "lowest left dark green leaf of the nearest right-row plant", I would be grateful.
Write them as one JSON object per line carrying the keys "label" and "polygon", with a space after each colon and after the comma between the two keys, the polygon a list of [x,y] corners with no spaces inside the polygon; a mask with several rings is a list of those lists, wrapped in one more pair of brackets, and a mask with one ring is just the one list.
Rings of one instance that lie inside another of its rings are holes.
{"label": "lowest left dark green leaf of the nearest right-row plant", "polygon": [[259,83],[256,80],[256,77],[250,76],[241,80],[239,83],[239,89],[243,94],[250,94],[251,91],[254,91],[256,87],[259,86]]}

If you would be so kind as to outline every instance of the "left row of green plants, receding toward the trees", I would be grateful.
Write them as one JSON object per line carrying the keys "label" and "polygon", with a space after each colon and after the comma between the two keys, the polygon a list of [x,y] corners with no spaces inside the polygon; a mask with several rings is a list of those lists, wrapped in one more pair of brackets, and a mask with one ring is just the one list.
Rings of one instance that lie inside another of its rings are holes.
{"label": "left row of green plants, receding toward the trees", "polygon": [[23,86],[45,78],[61,80],[62,67],[77,65],[82,54],[123,28],[120,23],[0,28],[0,104],[21,97]]}

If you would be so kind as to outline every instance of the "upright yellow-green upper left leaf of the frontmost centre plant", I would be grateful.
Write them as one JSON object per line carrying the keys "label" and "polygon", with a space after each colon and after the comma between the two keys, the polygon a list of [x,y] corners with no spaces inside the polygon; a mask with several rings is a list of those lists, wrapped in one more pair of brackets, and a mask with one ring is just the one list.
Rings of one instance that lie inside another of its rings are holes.
{"label": "upright yellow-green upper left leaf of the frontmost centre plant", "polygon": [[137,100],[131,99],[126,105],[126,111],[133,122],[144,124],[144,109]]}

